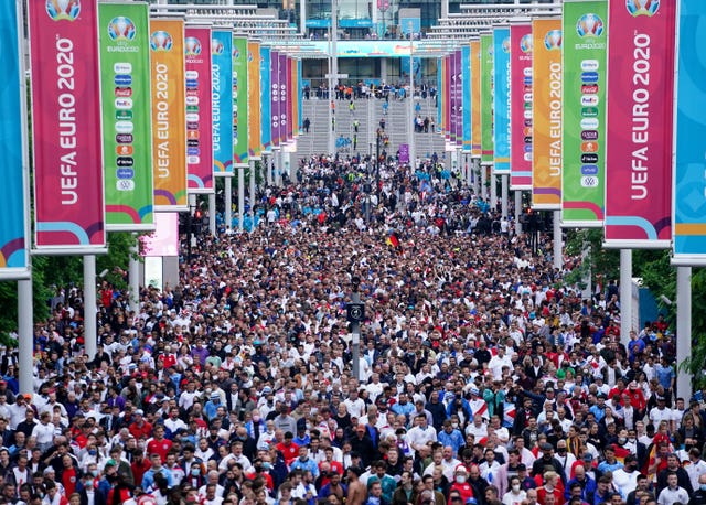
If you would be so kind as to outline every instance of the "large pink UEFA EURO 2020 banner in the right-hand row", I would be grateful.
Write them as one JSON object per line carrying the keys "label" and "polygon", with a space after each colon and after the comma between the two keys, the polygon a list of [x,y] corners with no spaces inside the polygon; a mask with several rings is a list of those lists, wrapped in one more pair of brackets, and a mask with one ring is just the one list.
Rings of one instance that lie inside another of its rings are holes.
{"label": "large pink UEFA EURO 2020 banner in the right-hand row", "polygon": [[670,247],[675,3],[610,2],[608,246]]}

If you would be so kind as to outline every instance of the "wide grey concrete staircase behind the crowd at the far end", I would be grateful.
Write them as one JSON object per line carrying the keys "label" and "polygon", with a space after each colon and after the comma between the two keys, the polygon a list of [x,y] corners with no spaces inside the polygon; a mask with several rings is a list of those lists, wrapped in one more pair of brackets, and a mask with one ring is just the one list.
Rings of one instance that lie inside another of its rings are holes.
{"label": "wide grey concrete staircase behind the crowd at the far end", "polygon": [[[416,97],[415,103],[419,103],[421,118],[428,117],[430,122],[437,122],[437,108],[430,98],[420,99]],[[409,132],[414,131],[408,127],[409,122],[409,103],[407,99],[394,100],[391,98],[387,115],[383,116],[383,104],[385,100],[371,98],[359,99],[353,101],[355,110],[353,114],[349,110],[347,100],[335,101],[335,131],[334,138],[341,137],[351,143],[339,146],[336,151],[349,157],[353,154],[373,154],[376,151],[375,132],[379,128],[381,118],[385,118],[385,133],[389,139],[386,148],[387,154],[394,157],[399,149],[400,143],[409,143]],[[331,123],[329,122],[329,101],[325,99],[302,100],[302,118],[309,118],[311,127],[309,132],[302,132],[297,142],[297,159],[309,158],[322,153],[329,153],[329,132]],[[353,121],[360,121],[357,132],[357,147],[353,149]],[[339,141],[340,142],[340,141]],[[340,142],[341,143],[341,142]],[[384,147],[381,144],[381,152]],[[434,152],[441,158],[443,153],[443,137],[439,133],[415,133],[415,149],[417,158],[430,158]]]}

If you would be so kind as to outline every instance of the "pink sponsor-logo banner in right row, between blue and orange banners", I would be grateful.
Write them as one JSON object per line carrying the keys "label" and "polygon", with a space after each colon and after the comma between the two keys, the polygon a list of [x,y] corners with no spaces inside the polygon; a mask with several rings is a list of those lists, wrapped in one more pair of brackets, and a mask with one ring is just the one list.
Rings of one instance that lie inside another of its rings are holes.
{"label": "pink sponsor-logo banner in right row, between blue and orange banners", "polygon": [[510,189],[532,190],[532,24],[510,26]]}

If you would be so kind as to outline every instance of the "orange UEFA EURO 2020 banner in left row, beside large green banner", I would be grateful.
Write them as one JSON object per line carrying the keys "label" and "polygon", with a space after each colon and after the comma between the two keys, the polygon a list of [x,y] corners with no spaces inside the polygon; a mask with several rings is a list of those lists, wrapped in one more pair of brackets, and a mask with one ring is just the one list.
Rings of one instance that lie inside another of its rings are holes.
{"label": "orange UEFA EURO 2020 banner in left row, beside large green banner", "polygon": [[154,211],[185,211],[184,21],[151,19],[150,51]]}

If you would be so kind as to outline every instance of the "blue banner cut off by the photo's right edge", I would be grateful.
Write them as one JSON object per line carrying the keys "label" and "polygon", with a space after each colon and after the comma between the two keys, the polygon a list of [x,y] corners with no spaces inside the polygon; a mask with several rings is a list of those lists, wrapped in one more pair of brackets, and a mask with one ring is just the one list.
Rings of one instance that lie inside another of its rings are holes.
{"label": "blue banner cut off by the photo's right edge", "polygon": [[678,6],[676,83],[676,161],[673,176],[676,265],[706,265],[706,2]]}

